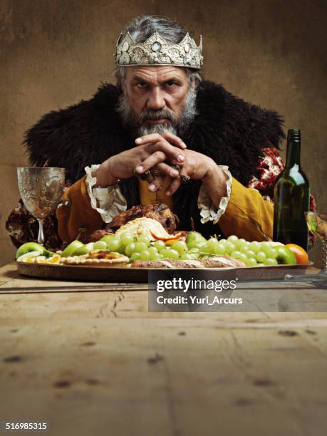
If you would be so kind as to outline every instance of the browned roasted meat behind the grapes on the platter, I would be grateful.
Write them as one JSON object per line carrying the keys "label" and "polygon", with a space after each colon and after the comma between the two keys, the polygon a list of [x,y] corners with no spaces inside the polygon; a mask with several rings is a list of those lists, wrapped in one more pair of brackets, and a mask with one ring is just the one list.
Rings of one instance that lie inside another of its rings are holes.
{"label": "browned roasted meat behind the grapes on the platter", "polygon": [[105,226],[105,230],[107,232],[115,232],[115,230],[119,229],[127,222],[142,217],[152,218],[160,222],[162,227],[164,227],[169,234],[175,231],[179,223],[177,215],[173,214],[166,204],[148,204],[147,206],[134,206],[125,212],[121,212]]}

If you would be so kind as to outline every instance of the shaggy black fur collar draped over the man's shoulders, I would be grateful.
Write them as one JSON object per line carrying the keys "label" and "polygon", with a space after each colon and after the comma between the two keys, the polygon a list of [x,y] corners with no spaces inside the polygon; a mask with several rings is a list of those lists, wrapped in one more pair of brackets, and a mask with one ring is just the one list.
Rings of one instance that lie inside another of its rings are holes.
{"label": "shaggy black fur collar draped over the man's shoulders", "polygon": [[[93,98],[44,115],[26,132],[26,145],[33,165],[66,167],[68,182],[85,174],[84,167],[101,163],[133,147],[133,139],[115,112],[119,97],[114,85],[104,83]],[[222,85],[204,81],[197,93],[198,115],[183,138],[191,150],[203,152],[246,185],[256,172],[262,147],[279,147],[284,138],[282,118],[228,93]],[[122,181],[128,207],[140,202],[135,177]],[[199,182],[181,187],[175,194],[175,212],[181,225],[197,210]],[[183,219],[185,218],[185,219]],[[184,221],[184,222],[183,222]]]}

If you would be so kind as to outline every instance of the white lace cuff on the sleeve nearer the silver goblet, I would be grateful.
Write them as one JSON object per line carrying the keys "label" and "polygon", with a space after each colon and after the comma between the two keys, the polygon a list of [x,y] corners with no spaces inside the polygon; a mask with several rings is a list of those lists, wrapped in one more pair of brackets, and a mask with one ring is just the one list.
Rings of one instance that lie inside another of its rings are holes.
{"label": "white lace cuff on the sleeve nearer the silver goblet", "polygon": [[86,190],[90,197],[91,206],[97,210],[104,222],[110,222],[113,217],[124,212],[127,209],[127,202],[118,183],[110,187],[94,187],[96,177],[93,174],[98,170],[100,165],[91,165],[85,167],[86,172]]}

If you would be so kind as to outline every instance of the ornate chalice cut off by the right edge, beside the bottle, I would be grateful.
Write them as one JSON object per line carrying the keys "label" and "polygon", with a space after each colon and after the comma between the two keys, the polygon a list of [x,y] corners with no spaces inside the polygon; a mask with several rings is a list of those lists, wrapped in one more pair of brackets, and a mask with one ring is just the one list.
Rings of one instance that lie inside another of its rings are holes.
{"label": "ornate chalice cut off by the right edge, beside the bottle", "polygon": [[285,276],[285,279],[324,287],[327,286],[327,212],[304,212],[304,214],[308,229],[321,239],[323,244],[323,267],[318,274]]}

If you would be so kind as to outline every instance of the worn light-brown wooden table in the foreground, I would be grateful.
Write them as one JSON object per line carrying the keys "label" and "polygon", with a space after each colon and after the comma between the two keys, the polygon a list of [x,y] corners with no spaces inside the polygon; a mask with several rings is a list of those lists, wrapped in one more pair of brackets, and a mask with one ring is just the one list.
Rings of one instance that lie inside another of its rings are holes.
{"label": "worn light-brown wooden table in the foreground", "polygon": [[327,434],[326,313],[148,313],[142,284],[48,284],[0,269],[0,421],[58,436]]}

